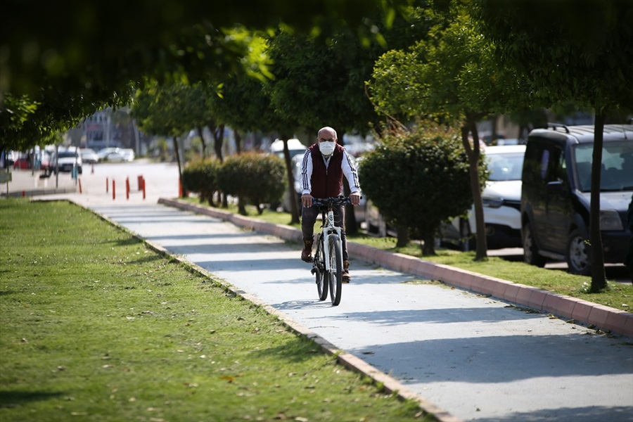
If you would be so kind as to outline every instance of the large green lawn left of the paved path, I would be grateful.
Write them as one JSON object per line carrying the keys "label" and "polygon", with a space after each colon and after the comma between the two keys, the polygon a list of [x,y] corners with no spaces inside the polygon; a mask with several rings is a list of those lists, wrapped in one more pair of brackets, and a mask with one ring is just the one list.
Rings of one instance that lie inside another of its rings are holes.
{"label": "large green lawn left of the paved path", "polygon": [[0,200],[0,421],[433,421],[65,202]]}

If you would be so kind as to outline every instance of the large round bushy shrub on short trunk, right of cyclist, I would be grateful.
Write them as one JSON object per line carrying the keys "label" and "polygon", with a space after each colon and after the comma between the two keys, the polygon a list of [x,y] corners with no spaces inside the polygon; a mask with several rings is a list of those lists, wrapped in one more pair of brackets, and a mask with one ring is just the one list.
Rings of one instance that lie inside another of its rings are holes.
{"label": "large round bushy shrub on short trunk, right of cyclist", "polygon": [[364,192],[385,218],[418,232],[423,255],[435,255],[442,221],[466,212],[473,200],[468,158],[456,130],[417,128],[389,135],[364,155],[359,172]]}

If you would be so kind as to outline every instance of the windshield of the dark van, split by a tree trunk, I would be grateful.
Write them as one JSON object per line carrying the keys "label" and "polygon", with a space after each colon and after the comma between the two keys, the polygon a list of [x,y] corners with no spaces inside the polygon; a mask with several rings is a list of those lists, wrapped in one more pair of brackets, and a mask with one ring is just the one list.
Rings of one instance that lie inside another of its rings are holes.
{"label": "windshield of the dark van, split by a tree trunk", "polygon": [[[592,190],[593,143],[574,148],[575,177],[581,192]],[[633,191],[633,142],[629,139],[605,142],[602,148],[601,191]]]}

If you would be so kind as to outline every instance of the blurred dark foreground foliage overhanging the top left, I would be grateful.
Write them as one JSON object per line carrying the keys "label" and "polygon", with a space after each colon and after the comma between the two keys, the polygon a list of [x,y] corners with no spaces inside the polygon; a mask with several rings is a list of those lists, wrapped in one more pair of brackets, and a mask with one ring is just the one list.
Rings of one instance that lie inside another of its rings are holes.
{"label": "blurred dark foreground foliage overhanging the top left", "polygon": [[[407,1],[112,0],[108,4],[68,0],[4,1],[0,27],[0,93],[36,94],[49,84],[62,91],[109,87],[186,71],[191,81],[209,74],[248,69],[249,45],[226,36],[235,23],[265,30],[280,22],[297,32],[326,37],[335,27],[357,27],[359,37],[376,37],[362,18],[381,8],[395,12]],[[54,16],[54,19],[51,17]],[[116,30],[113,30],[116,28]]]}

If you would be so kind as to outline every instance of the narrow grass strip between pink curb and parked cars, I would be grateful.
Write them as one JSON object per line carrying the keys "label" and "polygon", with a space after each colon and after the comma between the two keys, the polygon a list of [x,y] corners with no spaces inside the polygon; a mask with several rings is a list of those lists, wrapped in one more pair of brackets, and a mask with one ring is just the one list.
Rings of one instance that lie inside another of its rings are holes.
{"label": "narrow grass strip between pink curb and parked cars", "polygon": [[[184,200],[198,205],[205,205],[200,204],[198,198],[186,198]],[[237,207],[229,206],[228,209],[223,208],[222,210],[237,212]],[[288,224],[290,222],[290,214],[287,212],[264,210],[262,215],[257,215],[255,207],[247,207],[247,212],[248,217],[262,219],[270,223]],[[293,226],[300,229],[298,224]],[[319,226],[320,222],[317,222],[317,230]],[[473,260],[475,252],[459,252],[448,249],[438,249],[436,251],[437,256],[423,257],[418,243],[411,241],[404,248],[396,248],[396,239],[390,237],[378,238],[376,236],[358,234],[357,236],[347,236],[347,240],[633,312],[633,285],[630,283],[622,284],[610,281],[606,291],[602,293],[587,293],[588,287],[592,282],[591,277],[576,276],[568,274],[566,271],[542,269],[524,262],[504,260],[501,257],[488,257],[485,262],[475,262]]]}

